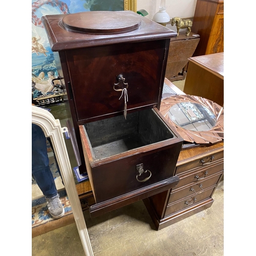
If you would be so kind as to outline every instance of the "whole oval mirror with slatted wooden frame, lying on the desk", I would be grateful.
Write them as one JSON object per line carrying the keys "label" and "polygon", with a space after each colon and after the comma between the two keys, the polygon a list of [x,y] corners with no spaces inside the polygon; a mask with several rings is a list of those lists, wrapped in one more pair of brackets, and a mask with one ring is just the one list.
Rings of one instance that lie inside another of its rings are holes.
{"label": "whole oval mirror with slatted wooden frame, lying on the desk", "polygon": [[209,144],[224,139],[224,109],[219,104],[191,95],[163,98],[161,114],[186,144]]}

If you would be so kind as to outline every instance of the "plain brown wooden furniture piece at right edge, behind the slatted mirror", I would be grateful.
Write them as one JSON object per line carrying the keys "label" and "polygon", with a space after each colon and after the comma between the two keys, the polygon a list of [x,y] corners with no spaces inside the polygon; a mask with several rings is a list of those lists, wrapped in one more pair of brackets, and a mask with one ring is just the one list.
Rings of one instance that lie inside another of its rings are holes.
{"label": "plain brown wooden furniture piece at right edge, behind the slatted mirror", "polygon": [[184,93],[224,104],[224,53],[188,59]]}

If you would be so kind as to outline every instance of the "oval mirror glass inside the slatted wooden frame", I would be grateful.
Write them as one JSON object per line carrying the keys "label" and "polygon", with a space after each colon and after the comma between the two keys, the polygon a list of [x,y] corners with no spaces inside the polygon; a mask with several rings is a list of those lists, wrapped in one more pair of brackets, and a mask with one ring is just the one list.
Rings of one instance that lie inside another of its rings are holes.
{"label": "oval mirror glass inside the slatted wooden frame", "polygon": [[191,131],[208,131],[216,124],[216,116],[206,106],[180,102],[169,109],[169,117],[180,127]]}

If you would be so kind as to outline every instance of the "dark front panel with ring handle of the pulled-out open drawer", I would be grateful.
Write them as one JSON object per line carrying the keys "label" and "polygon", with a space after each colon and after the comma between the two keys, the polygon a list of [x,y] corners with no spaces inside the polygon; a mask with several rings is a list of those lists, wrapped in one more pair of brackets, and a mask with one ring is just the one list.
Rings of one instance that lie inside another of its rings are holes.
{"label": "dark front panel with ring handle of the pulled-out open drawer", "polygon": [[[113,199],[138,189],[145,189],[173,176],[177,161],[176,148],[154,154],[139,154],[92,168],[96,203]],[[144,173],[138,175],[137,165]],[[141,182],[145,180],[144,182]],[[154,191],[152,191],[154,192]],[[154,195],[154,193],[153,193]]]}

